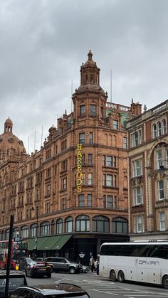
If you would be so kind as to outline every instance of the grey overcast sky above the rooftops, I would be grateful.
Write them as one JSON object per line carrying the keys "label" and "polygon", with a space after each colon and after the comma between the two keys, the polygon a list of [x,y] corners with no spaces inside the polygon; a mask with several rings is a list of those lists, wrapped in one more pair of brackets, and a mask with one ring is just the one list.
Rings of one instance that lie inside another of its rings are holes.
{"label": "grey overcast sky above the rooftops", "polygon": [[40,149],[71,112],[89,50],[109,101],[110,70],[112,102],[167,100],[168,1],[0,0],[0,134],[10,117],[26,151]]}

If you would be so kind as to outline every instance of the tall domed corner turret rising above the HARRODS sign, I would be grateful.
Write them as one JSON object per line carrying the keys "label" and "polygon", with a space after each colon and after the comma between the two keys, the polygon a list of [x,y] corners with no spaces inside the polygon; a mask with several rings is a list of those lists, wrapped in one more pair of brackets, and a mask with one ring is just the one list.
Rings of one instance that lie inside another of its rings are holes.
{"label": "tall domed corner turret rising above the HARRODS sign", "polygon": [[80,86],[72,98],[75,120],[105,118],[107,94],[100,87],[100,68],[93,61],[91,50],[88,53],[88,60],[80,67]]}

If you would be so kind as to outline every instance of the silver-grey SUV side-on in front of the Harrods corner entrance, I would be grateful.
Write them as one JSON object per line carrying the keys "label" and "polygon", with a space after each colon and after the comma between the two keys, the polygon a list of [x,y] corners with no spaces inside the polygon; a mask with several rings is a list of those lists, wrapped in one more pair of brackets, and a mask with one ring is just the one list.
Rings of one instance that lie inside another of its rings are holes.
{"label": "silver-grey SUV side-on in front of the Harrods corner entrance", "polygon": [[53,272],[70,272],[71,274],[80,273],[82,265],[76,262],[71,262],[65,257],[46,257],[48,265],[53,266]]}

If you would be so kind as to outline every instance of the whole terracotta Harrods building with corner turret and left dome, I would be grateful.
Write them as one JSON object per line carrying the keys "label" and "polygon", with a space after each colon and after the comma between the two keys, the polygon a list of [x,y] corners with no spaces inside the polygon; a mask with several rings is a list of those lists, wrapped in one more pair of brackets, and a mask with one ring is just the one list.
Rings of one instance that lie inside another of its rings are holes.
{"label": "whole terracotta Harrods building with corner turret and left dome", "polygon": [[88,263],[105,241],[127,241],[127,119],[141,105],[107,102],[100,69],[88,53],[80,68],[73,112],[49,129],[31,156],[7,119],[0,135],[0,237],[27,239],[30,255]]}

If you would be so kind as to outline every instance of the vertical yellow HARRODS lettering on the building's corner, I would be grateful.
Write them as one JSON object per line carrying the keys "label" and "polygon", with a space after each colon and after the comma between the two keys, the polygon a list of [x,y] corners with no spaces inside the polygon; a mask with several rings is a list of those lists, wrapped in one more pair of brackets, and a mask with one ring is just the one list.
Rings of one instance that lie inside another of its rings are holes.
{"label": "vertical yellow HARRODS lettering on the building's corner", "polygon": [[77,192],[81,193],[82,191],[82,144],[77,145],[77,171],[76,171],[76,186],[77,186]]}

